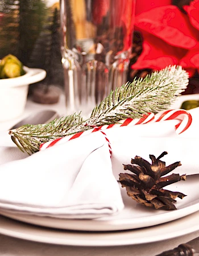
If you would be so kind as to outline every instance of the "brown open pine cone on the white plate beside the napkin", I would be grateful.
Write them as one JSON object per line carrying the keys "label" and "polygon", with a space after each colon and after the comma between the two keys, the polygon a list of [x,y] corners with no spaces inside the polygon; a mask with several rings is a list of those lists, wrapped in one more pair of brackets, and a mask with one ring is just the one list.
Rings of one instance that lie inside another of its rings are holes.
{"label": "brown open pine cone on the white plate beside the napkin", "polygon": [[186,175],[171,174],[164,176],[176,167],[181,166],[180,162],[175,162],[166,167],[165,162],[161,161],[160,158],[167,154],[164,151],[158,158],[150,155],[152,164],[140,156],[135,156],[135,159],[131,159],[131,164],[123,164],[125,170],[134,173],[119,174],[119,181],[122,187],[126,187],[128,196],[147,207],[165,210],[176,209],[173,204],[176,202],[175,199],[177,197],[183,199],[186,195],[163,189],[163,187],[180,180],[186,180]]}

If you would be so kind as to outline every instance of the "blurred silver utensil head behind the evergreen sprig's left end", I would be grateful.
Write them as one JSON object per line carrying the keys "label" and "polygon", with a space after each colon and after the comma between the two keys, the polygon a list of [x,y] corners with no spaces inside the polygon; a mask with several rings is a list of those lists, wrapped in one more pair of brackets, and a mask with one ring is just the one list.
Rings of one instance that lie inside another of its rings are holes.
{"label": "blurred silver utensil head behind the evergreen sprig's left end", "polygon": [[53,119],[59,118],[59,114],[55,110],[42,110],[34,112],[27,117],[23,118],[20,122],[16,123],[9,130],[13,130],[22,125],[39,125],[40,123],[48,123]]}

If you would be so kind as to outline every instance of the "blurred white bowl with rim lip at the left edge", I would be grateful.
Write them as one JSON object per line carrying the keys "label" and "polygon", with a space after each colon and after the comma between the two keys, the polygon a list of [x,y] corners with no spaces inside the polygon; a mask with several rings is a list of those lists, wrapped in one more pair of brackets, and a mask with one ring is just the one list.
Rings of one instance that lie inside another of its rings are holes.
{"label": "blurred white bowl with rim lip at the left edge", "polygon": [[43,80],[46,72],[39,68],[24,67],[25,75],[0,79],[0,122],[19,117],[27,102],[30,84]]}

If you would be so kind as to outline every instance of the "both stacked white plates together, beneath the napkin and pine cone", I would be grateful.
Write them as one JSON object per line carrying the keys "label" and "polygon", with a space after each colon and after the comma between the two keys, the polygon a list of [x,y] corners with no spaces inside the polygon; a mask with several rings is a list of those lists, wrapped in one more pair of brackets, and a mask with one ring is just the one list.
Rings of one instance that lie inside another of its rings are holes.
{"label": "both stacked white plates together, beneath the napkin and pine cone", "polygon": [[186,184],[180,181],[169,185],[172,191],[188,195],[177,200],[177,210],[169,212],[136,204],[123,188],[125,209],[115,216],[96,220],[64,220],[1,210],[0,233],[32,241],[80,246],[134,245],[175,238],[199,230],[198,184],[198,177],[193,175]]}

